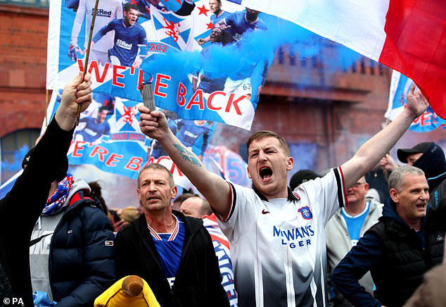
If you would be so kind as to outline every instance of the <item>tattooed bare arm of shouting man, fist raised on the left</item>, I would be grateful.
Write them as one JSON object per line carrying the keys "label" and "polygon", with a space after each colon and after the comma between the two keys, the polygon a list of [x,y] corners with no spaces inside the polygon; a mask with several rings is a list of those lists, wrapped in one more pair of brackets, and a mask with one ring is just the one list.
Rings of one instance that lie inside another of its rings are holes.
{"label": "tattooed bare arm of shouting man, fist raised on the left", "polygon": [[139,106],[138,110],[141,113],[141,131],[160,142],[181,172],[205,196],[215,213],[222,217],[227,216],[231,205],[227,182],[219,175],[206,170],[200,159],[179,142],[169,129],[164,113],[150,112],[145,106]]}

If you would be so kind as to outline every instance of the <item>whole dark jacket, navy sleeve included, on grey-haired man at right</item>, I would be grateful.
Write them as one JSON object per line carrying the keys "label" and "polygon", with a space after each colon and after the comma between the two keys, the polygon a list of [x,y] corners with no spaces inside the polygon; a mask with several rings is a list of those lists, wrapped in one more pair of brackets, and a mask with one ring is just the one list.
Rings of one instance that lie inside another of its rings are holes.
{"label": "whole dark jacket, navy sleeve included, on grey-haired man at right", "polygon": [[[433,211],[428,206],[417,234],[397,215],[395,203],[386,203],[379,222],[333,271],[333,282],[343,296],[355,306],[402,306],[423,281],[423,274],[442,261],[446,231],[443,209]],[[358,280],[368,271],[379,301],[359,285]]]}

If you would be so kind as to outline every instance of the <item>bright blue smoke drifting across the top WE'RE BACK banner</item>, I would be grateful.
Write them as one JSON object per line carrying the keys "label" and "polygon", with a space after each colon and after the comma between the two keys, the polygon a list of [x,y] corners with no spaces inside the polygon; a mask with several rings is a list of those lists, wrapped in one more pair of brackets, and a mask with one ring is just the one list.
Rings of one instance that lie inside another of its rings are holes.
{"label": "bright blue smoke drifting across the top WE'RE BACK banner", "polygon": [[[308,61],[317,56],[323,63],[324,74],[345,71],[362,57],[355,51],[329,39],[305,30],[287,20],[260,13],[259,18],[267,25],[267,30],[243,33],[237,44],[212,44],[203,51],[167,51],[166,56],[152,56],[145,60],[141,68],[145,81],[153,73],[175,73],[178,70],[195,75],[200,68],[212,72],[212,77],[231,77],[239,73],[252,73],[257,63],[272,59],[280,46],[286,46],[288,54],[294,54],[295,61]],[[329,51],[329,52],[328,52]],[[312,63],[307,63],[308,66]],[[261,72],[260,72],[261,73]],[[300,76],[293,75],[291,82],[299,83]]]}

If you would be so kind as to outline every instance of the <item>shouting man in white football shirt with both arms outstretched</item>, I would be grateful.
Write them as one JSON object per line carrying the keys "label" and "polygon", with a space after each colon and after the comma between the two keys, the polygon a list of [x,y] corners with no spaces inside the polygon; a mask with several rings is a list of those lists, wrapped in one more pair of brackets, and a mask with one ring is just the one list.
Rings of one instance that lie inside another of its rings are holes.
{"label": "shouting man in white football shirt with both arms outstretched", "polygon": [[262,131],[248,139],[248,175],[254,189],[226,182],[203,167],[169,130],[163,113],[141,112],[141,131],[157,139],[174,163],[198,188],[219,217],[229,239],[241,306],[324,306],[326,248],[324,227],[347,189],[393,147],[428,107],[414,87],[407,108],[369,139],[355,156],[326,176],[287,187],[293,168],[285,139]]}

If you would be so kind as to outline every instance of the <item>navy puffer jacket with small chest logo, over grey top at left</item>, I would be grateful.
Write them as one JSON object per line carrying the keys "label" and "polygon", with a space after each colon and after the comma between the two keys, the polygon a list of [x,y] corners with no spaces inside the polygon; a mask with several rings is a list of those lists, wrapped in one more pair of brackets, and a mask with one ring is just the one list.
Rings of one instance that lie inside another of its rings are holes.
{"label": "navy puffer jacket with small chest logo, over grey top at left", "polygon": [[72,196],[51,238],[49,280],[58,306],[92,306],[115,281],[112,225],[84,193]]}

